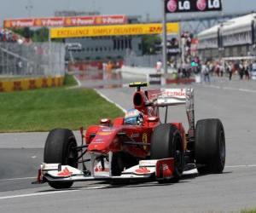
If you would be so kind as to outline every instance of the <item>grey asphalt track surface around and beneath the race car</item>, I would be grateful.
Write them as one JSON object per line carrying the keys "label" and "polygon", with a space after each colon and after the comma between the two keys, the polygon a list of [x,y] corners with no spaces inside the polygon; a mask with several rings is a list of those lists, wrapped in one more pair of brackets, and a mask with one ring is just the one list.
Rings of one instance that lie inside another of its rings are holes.
{"label": "grey asphalt track surface around and beneath the race car", "polygon": [[[134,77],[126,78],[125,83],[132,80]],[[47,133],[1,134],[0,212],[236,212],[255,208],[256,82],[218,78],[193,88],[196,120],[220,118],[224,124],[227,156],[223,174],[192,173],[166,185],[154,181],[118,186],[80,182],[70,190],[58,191],[31,184],[43,161]],[[124,108],[132,107],[133,90],[98,89]],[[183,107],[169,112],[170,121],[187,122]]]}

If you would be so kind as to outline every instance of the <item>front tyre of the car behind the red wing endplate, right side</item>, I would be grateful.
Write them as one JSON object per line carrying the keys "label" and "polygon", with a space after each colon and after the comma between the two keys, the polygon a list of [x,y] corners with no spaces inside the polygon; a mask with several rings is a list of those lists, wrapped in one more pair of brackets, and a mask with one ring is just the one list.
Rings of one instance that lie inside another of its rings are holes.
{"label": "front tyre of the car behind the red wing endplate, right side", "polygon": [[151,138],[151,158],[174,158],[174,174],[170,181],[179,181],[183,173],[184,153],[182,137],[173,124],[160,124]]}

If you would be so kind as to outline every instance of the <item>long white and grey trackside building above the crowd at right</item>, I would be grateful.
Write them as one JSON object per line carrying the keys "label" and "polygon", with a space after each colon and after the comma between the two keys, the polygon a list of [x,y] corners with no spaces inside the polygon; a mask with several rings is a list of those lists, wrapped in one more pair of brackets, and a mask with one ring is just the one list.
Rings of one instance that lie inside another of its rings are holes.
{"label": "long white and grey trackside building above the crowd at right", "polygon": [[231,19],[200,32],[199,55],[202,59],[255,56],[256,13]]}

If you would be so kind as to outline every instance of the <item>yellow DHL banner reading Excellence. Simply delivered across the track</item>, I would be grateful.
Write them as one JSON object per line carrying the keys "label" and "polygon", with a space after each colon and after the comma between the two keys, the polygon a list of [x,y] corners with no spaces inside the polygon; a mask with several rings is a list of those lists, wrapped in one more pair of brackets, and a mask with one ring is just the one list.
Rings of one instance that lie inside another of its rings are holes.
{"label": "yellow DHL banner reading Excellence. Simply delivered across the track", "polygon": [[[178,23],[167,23],[167,33],[178,33]],[[162,24],[133,24],[116,26],[61,27],[50,30],[51,38],[108,37],[125,35],[150,35],[162,33]]]}

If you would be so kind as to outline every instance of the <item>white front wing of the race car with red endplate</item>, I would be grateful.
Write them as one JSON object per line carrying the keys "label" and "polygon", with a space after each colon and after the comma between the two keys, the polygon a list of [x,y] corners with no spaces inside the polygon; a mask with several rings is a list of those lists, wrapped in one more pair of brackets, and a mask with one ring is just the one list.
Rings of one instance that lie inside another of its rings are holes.
{"label": "white front wing of the race car with red endplate", "polygon": [[141,160],[138,165],[124,170],[120,176],[110,176],[108,170],[102,174],[88,176],[83,171],[69,165],[41,164],[38,183],[55,181],[114,181],[114,180],[165,180],[174,174],[173,158]]}

